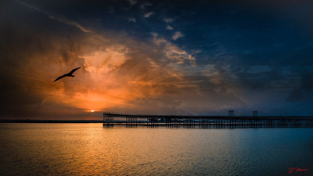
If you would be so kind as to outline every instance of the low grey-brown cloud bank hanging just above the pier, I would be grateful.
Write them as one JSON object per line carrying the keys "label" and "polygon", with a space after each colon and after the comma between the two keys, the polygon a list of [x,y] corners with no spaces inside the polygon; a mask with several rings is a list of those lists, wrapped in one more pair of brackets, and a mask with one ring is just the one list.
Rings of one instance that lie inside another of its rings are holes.
{"label": "low grey-brown cloud bank hanging just above the pier", "polygon": [[227,92],[223,87],[219,91],[214,91],[213,89],[196,90],[194,88],[177,88],[166,85],[156,86],[162,91],[162,97],[140,97],[129,102],[131,105],[141,107],[140,110],[125,106],[115,107],[110,111],[125,113],[138,113],[140,111],[147,114],[221,115],[227,113],[231,108],[241,109],[247,106],[246,102]]}

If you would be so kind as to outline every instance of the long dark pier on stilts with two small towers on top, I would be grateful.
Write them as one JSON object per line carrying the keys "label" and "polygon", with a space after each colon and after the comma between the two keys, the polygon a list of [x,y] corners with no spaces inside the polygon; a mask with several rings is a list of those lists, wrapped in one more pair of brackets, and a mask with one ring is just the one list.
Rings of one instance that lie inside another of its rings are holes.
{"label": "long dark pier on stilts with two small towers on top", "polygon": [[[187,127],[187,128],[287,128],[313,127],[313,116],[208,116],[103,113],[103,126]],[[114,122],[114,117],[125,122]],[[138,122],[138,119],[141,121]],[[146,121],[145,121],[146,119]]]}

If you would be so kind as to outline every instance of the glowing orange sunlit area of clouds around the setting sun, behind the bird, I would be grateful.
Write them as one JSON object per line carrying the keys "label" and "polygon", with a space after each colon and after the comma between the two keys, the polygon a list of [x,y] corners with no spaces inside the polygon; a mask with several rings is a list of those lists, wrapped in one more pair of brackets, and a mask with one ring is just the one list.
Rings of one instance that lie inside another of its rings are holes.
{"label": "glowing orange sunlit area of clouds around the setting sun, behind the bird", "polygon": [[[157,43],[156,48],[152,49],[126,36],[123,43],[117,41],[110,44],[107,44],[105,36],[95,34],[83,35],[77,41],[60,39],[64,40],[60,42],[63,44],[51,40],[52,50],[21,53],[27,59],[18,69],[21,79],[27,82],[24,83],[28,85],[25,88],[43,98],[37,105],[40,106],[38,111],[46,111],[52,105],[51,109],[58,111],[62,107],[62,112],[69,114],[73,111],[90,113],[92,110],[104,112],[119,109],[130,113],[166,113],[168,110],[172,113],[192,113],[186,112],[186,108],[205,108],[192,105],[192,100],[201,98],[203,94],[200,92],[205,90],[197,90],[193,82],[183,78],[189,70],[197,67],[192,55],[170,41],[156,41],[151,36],[151,42]],[[154,54],[160,52],[166,57],[160,60],[153,58],[156,57]],[[183,66],[185,71],[181,69],[184,60],[191,62],[189,66]],[[165,63],[166,67],[163,66]],[[75,77],[52,82],[79,66],[81,69],[74,72]],[[212,90],[211,93],[217,92]],[[228,94],[223,92],[223,96]],[[182,102],[182,98],[189,100]],[[216,104],[215,108],[219,108],[219,103],[211,104],[207,98],[203,100],[207,106]],[[92,118],[94,113],[90,116]]]}

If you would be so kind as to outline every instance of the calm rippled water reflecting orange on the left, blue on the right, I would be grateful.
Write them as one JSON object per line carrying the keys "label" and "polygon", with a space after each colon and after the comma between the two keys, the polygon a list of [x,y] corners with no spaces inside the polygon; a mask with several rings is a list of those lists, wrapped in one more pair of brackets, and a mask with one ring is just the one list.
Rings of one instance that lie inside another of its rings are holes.
{"label": "calm rippled water reflecting orange on the left, blue on the right", "polygon": [[313,129],[0,123],[0,154],[0,175],[302,176],[313,175]]}

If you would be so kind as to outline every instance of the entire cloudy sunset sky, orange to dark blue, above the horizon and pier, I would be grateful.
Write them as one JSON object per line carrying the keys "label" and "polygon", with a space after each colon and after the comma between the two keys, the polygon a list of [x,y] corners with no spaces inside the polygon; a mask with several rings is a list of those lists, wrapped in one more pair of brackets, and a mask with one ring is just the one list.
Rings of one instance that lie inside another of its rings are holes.
{"label": "entire cloudy sunset sky, orange to dark blue, above the horizon and pier", "polygon": [[1,1],[0,118],[313,115],[312,12],[303,0]]}

